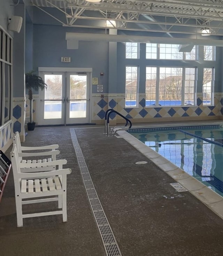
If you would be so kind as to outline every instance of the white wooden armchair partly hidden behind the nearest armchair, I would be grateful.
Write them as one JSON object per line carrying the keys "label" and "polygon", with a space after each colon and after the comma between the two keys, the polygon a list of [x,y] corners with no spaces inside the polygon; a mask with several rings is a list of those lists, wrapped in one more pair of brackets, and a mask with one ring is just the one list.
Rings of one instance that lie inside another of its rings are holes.
{"label": "white wooden armchair partly hidden behind the nearest armchair", "polygon": [[[18,150],[18,156],[20,159],[20,162],[23,164],[39,164],[39,163],[51,163],[52,161],[56,160],[56,156],[59,155],[60,151],[56,150],[57,148],[59,148],[59,145],[57,144],[53,144],[53,145],[47,145],[47,146],[22,146],[21,145],[21,141],[20,141],[20,136],[18,131],[16,131],[15,136],[13,137],[13,144],[17,145],[17,150]],[[40,150],[42,150],[41,152],[39,152]],[[45,150],[45,151],[43,151]],[[25,152],[25,151],[32,151],[32,152]],[[36,152],[35,152],[36,151]],[[44,159],[38,159],[38,160],[26,160],[23,159],[23,157],[43,157],[43,156],[48,156],[47,158]],[[37,166],[37,165],[36,165]],[[55,166],[53,166],[52,164],[50,165],[44,165],[45,166],[45,171],[52,171],[55,170]],[[41,165],[39,165],[39,167],[35,167],[35,165],[33,165],[32,168],[35,168],[33,171],[37,172],[37,171],[41,171]],[[27,165],[25,165],[23,168],[22,172],[30,172],[32,170],[30,170],[31,167],[28,167]],[[62,168],[62,166],[61,166]]]}

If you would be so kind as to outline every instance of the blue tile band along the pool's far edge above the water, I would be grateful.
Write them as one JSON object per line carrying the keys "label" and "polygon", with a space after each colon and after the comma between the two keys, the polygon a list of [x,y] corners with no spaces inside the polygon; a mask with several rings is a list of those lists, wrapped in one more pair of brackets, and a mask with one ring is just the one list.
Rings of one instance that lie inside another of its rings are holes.
{"label": "blue tile band along the pool's far edge above the water", "polygon": [[127,130],[128,133],[147,133],[149,131],[170,131],[170,130],[200,130],[200,129],[220,129],[221,125],[196,125],[196,126],[174,126],[157,128],[134,128]]}

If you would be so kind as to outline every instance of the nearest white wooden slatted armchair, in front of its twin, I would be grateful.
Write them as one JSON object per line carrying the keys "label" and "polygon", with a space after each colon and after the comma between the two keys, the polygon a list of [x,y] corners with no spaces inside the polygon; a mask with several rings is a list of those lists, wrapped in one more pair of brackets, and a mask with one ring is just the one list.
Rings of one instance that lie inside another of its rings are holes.
{"label": "nearest white wooden slatted armchair, in front of its twin", "polygon": [[[67,221],[67,174],[70,169],[45,171],[49,163],[21,163],[17,145],[10,152],[13,168],[17,226],[23,226],[23,219],[38,216],[62,214],[63,222]],[[65,160],[66,161],[66,160]],[[52,161],[52,165],[62,166],[64,160]],[[40,168],[40,172],[24,173],[21,168]],[[58,210],[26,213],[22,212],[23,204],[58,201]],[[61,208],[61,209],[60,209]]]}

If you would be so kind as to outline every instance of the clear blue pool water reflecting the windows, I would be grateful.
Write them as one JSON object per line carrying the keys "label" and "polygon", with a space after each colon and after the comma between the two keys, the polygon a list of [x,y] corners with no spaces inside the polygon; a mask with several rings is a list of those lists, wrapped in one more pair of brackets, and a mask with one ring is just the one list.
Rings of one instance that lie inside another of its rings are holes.
{"label": "clear blue pool water reflecting the windows", "polygon": [[[198,137],[177,130],[132,135],[223,196],[223,129],[187,132]],[[200,137],[210,140],[211,143]]]}

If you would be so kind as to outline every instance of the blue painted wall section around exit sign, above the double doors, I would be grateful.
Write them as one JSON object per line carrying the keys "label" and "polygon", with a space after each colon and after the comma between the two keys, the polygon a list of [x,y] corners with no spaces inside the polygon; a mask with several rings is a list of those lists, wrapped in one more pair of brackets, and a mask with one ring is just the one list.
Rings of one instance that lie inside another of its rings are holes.
{"label": "blue painted wall section around exit sign, above the double doors", "polygon": [[[66,32],[91,32],[55,25],[33,25],[33,69],[38,67],[93,68],[93,77],[98,77],[108,92],[108,42],[80,41],[77,50],[67,50]],[[101,30],[94,30],[98,33]],[[70,63],[61,62],[61,57],[71,57]],[[104,73],[100,76],[100,72]],[[93,86],[93,93],[97,92]]]}

